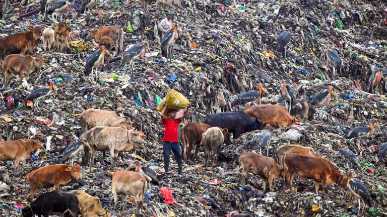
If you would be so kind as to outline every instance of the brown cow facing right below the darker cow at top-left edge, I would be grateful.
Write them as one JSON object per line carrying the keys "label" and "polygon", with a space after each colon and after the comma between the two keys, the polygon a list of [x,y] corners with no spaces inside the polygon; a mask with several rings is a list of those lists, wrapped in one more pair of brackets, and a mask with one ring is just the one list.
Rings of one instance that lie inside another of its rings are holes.
{"label": "brown cow facing right below the darker cow at top-left edge", "polygon": [[41,68],[43,66],[43,57],[37,56],[32,58],[30,55],[11,54],[8,55],[3,61],[3,73],[4,73],[4,86],[8,87],[8,80],[11,74],[20,75],[20,81],[23,82],[24,75],[28,80],[30,73],[35,71],[35,67]]}

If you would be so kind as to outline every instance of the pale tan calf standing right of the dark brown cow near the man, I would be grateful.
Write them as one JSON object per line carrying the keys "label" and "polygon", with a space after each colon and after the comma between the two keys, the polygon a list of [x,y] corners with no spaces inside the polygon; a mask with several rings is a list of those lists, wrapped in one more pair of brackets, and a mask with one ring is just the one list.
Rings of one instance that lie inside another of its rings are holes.
{"label": "pale tan calf standing right of the dark brown cow near the man", "polygon": [[224,142],[223,132],[225,131],[227,131],[227,128],[220,129],[218,127],[212,127],[203,133],[200,145],[204,147],[204,155],[206,157],[206,163],[204,165],[205,167],[207,167],[207,163],[210,162],[210,158],[211,169],[214,168],[214,162],[216,166],[217,159],[219,157],[220,147]]}

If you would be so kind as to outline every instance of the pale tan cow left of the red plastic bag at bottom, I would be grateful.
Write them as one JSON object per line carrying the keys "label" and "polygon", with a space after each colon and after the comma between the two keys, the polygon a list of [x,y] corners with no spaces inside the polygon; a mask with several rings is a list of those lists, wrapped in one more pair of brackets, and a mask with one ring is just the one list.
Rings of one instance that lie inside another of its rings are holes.
{"label": "pale tan cow left of the red plastic bag at bottom", "polygon": [[117,208],[118,194],[123,194],[123,208],[126,209],[127,195],[133,195],[136,201],[136,214],[140,213],[140,208],[143,206],[144,194],[147,191],[147,180],[140,173],[133,171],[115,172],[108,171],[112,175],[111,191],[114,198],[114,209]]}

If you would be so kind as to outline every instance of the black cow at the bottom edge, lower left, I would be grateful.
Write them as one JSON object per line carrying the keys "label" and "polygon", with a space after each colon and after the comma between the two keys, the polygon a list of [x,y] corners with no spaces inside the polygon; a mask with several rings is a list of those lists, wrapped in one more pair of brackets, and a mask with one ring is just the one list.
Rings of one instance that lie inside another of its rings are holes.
{"label": "black cow at the bottom edge, lower left", "polygon": [[35,215],[48,217],[53,212],[64,212],[66,213],[64,216],[78,216],[78,198],[65,192],[46,192],[22,209],[23,217]]}

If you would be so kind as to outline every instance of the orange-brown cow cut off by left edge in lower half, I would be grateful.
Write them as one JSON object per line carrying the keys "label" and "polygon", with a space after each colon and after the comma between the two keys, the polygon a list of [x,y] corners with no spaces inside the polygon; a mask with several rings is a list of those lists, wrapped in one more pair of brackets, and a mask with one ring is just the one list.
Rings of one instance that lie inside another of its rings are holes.
{"label": "orange-brown cow cut off by left edge in lower half", "polygon": [[26,160],[33,151],[41,148],[43,148],[42,144],[35,139],[0,142],[0,160],[15,160],[14,173],[18,175],[21,172],[18,171],[20,161]]}

